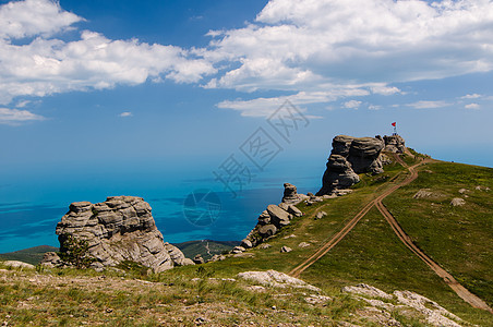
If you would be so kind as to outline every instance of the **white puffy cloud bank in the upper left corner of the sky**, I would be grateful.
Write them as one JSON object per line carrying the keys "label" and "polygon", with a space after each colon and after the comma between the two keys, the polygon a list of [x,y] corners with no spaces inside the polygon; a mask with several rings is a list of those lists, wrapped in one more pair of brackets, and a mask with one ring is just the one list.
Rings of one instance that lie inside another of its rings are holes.
{"label": "white puffy cloud bank in the upper left corner of the sky", "polygon": [[[111,88],[160,77],[196,83],[215,72],[206,60],[175,46],[112,40],[91,31],[72,41],[52,37],[81,21],[50,0],[0,7],[0,104],[17,96]],[[14,43],[23,37],[33,39]]]}

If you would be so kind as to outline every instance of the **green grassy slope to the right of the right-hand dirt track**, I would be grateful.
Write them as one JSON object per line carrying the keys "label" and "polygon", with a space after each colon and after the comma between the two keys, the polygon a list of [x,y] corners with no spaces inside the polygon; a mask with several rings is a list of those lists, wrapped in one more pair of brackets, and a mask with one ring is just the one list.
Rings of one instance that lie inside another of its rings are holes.
{"label": "green grassy slope to the right of the right-hand dirt track", "polygon": [[[493,190],[493,169],[440,162],[384,204],[420,249],[492,306],[493,192],[478,185]],[[433,195],[412,198],[421,189]],[[469,191],[460,194],[460,189]],[[450,206],[454,197],[465,198],[466,205]]]}

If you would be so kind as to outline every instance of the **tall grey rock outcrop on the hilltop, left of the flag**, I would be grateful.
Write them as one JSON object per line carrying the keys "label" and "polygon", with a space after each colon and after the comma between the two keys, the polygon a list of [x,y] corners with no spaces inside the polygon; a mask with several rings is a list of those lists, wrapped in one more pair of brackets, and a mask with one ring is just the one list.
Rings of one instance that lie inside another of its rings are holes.
{"label": "tall grey rock outcrop on the hilltop, left of the flag", "polygon": [[322,189],[316,195],[329,194],[334,190],[358,183],[358,173],[383,172],[380,154],[385,143],[381,137],[338,135],[334,137],[332,146],[327,169],[322,178]]}

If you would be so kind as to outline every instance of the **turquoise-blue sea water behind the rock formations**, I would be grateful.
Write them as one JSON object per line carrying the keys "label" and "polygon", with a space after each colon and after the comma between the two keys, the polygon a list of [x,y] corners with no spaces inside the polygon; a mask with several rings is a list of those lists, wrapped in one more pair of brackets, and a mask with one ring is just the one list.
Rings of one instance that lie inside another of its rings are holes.
{"label": "turquoise-blue sea water behind the rock formations", "polygon": [[[303,164],[304,162],[304,164]],[[216,164],[168,167],[163,162],[111,165],[46,165],[11,167],[0,181],[0,253],[36,245],[58,246],[55,228],[72,202],[104,202],[107,196],[141,196],[165,241],[242,240],[255,226],[268,204],[278,204],[282,184],[293,183],[300,193],[316,192],[321,185],[324,158],[272,165],[254,171],[237,194],[215,180]],[[184,215],[184,201],[196,190],[213,191],[220,202],[211,223],[192,223]]]}

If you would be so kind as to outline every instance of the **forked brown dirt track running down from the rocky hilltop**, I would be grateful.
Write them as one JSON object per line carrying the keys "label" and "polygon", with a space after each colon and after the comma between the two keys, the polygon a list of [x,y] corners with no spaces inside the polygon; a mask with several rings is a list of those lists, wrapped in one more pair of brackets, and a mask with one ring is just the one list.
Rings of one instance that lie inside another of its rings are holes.
{"label": "forked brown dirt track running down from the rocky hilltop", "polygon": [[376,206],[378,211],[385,217],[387,222],[390,225],[392,229],[396,233],[396,235],[399,238],[405,245],[412,251],[420,259],[422,259],[436,275],[438,275],[453,290],[457,293],[464,301],[472,305],[477,308],[482,308],[485,311],[489,311],[490,313],[493,313],[493,310],[488,306],[488,304],[482,301],[477,295],[469,292],[465,287],[462,287],[450,274],[445,271],[438,264],[436,264],[433,259],[431,259],[428,255],[425,255],[418,246],[412,243],[409,235],[402,230],[402,228],[399,226],[397,220],[392,216],[392,214],[387,210],[387,208],[383,205],[382,201],[394,193],[397,189],[408,185],[412,181],[414,181],[418,178],[418,172],[414,168],[418,166],[421,166],[423,164],[428,164],[433,161],[432,159],[424,159],[423,161],[416,164],[411,167],[409,167],[398,155],[394,154],[394,158],[397,162],[399,162],[402,167],[407,168],[410,172],[410,175],[406,178],[402,182],[392,186],[390,189],[386,190],[384,193],[382,193],[378,197],[371,201],[369,204],[366,204],[346,226],[337,233],[335,234],[327,243],[325,243],[322,247],[320,247],[312,256],[310,256],[308,259],[305,259],[302,264],[293,268],[291,271],[289,271],[289,275],[292,277],[299,277],[304,270],[306,270],[311,265],[313,265],[315,262],[317,262],[322,256],[324,256],[330,249],[337,245],[358,223],[358,221],[363,218],[368,211],[373,206]]}

